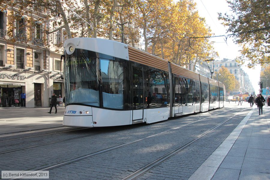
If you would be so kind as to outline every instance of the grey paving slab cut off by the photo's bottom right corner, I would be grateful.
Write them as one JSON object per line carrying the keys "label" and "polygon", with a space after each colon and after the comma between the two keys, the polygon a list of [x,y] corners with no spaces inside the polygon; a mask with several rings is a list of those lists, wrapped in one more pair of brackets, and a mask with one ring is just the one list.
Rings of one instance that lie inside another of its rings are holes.
{"label": "grey paving slab cut off by the photo's bottom right corner", "polygon": [[239,180],[269,180],[270,174],[242,170]]}

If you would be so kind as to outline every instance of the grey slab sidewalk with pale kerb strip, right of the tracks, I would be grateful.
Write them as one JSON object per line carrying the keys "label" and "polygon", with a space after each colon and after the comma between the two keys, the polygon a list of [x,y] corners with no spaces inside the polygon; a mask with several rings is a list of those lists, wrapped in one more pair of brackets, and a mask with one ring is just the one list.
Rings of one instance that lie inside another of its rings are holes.
{"label": "grey slab sidewalk with pale kerb strip, right of the tracks", "polygon": [[270,107],[264,106],[263,115],[259,116],[259,110],[253,106],[235,130],[188,180],[270,179],[269,127]]}

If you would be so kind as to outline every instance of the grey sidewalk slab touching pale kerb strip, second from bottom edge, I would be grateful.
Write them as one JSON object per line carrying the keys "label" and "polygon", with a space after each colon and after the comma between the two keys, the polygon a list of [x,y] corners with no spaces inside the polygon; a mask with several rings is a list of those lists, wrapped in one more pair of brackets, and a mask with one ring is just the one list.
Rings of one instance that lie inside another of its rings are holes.
{"label": "grey sidewalk slab touching pale kerb strip, second from bottom edge", "polygon": [[223,160],[222,164],[220,165],[220,168],[241,170],[243,161],[244,157],[227,155],[226,158]]}

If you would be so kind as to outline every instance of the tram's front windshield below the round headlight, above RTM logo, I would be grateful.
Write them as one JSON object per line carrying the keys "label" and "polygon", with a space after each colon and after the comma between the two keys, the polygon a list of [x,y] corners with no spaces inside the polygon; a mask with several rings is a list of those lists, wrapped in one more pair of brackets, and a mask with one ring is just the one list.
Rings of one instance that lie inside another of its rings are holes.
{"label": "tram's front windshield below the round headlight, above RTM logo", "polygon": [[68,56],[64,67],[66,103],[99,106],[97,58],[81,50],[76,56]]}

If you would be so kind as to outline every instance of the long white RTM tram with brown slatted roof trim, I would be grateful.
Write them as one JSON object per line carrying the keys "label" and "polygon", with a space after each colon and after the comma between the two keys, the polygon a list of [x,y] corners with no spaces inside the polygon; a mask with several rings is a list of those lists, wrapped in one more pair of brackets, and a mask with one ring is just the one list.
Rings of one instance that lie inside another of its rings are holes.
{"label": "long white RTM tram with brown slatted roof trim", "polygon": [[117,41],[68,39],[62,60],[64,126],[154,123],[224,106],[221,82]]}

